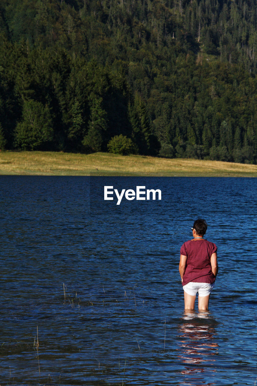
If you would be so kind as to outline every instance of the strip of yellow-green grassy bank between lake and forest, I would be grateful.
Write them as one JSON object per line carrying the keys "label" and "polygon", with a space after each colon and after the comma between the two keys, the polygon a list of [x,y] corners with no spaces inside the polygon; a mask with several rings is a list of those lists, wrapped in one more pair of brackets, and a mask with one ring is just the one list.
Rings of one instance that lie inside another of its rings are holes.
{"label": "strip of yellow-green grassy bank between lake and forest", "polygon": [[0,174],[256,177],[257,165],[108,153],[7,151],[0,153]]}

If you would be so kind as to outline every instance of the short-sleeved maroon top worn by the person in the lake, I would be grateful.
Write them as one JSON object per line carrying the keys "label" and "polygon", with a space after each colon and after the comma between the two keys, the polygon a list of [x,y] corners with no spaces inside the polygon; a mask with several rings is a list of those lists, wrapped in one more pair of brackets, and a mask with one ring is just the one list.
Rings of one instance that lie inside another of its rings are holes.
{"label": "short-sleeved maroon top worn by the person in the lake", "polygon": [[184,242],[180,254],[188,258],[183,275],[183,286],[190,281],[210,284],[215,282],[215,276],[211,271],[211,255],[216,251],[216,245],[205,239]]}

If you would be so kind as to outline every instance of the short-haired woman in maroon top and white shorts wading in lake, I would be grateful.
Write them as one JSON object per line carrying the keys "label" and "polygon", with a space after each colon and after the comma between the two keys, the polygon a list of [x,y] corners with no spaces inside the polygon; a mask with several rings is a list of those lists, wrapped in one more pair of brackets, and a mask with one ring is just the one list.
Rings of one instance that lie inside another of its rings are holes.
{"label": "short-haired woman in maroon top and white shorts wading in lake", "polygon": [[194,310],[198,292],[199,310],[208,310],[210,293],[218,274],[217,247],[203,238],[207,230],[205,220],[198,218],[191,229],[193,239],[182,245],[179,262],[185,309]]}

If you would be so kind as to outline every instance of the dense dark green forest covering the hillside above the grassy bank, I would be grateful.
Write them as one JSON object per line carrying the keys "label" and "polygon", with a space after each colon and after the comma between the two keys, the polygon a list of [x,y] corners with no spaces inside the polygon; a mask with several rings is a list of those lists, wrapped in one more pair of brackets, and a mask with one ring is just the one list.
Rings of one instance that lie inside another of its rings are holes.
{"label": "dense dark green forest covering the hillside above the grassy bank", "polygon": [[0,150],[257,163],[254,0],[1,0]]}

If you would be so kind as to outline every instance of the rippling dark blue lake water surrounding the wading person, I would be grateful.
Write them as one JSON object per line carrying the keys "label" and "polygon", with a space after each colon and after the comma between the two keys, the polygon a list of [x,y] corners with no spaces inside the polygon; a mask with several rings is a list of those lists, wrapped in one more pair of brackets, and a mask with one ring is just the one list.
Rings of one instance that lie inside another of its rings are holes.
{"label": "rippling dark blue lake water surrounding the wading person", "polygon": [[[104,186],[161,200],[104,200]],[[0,176],[0,384],[254,385],[257,179]],[[179,250],[218,246],[209,312]]]}

